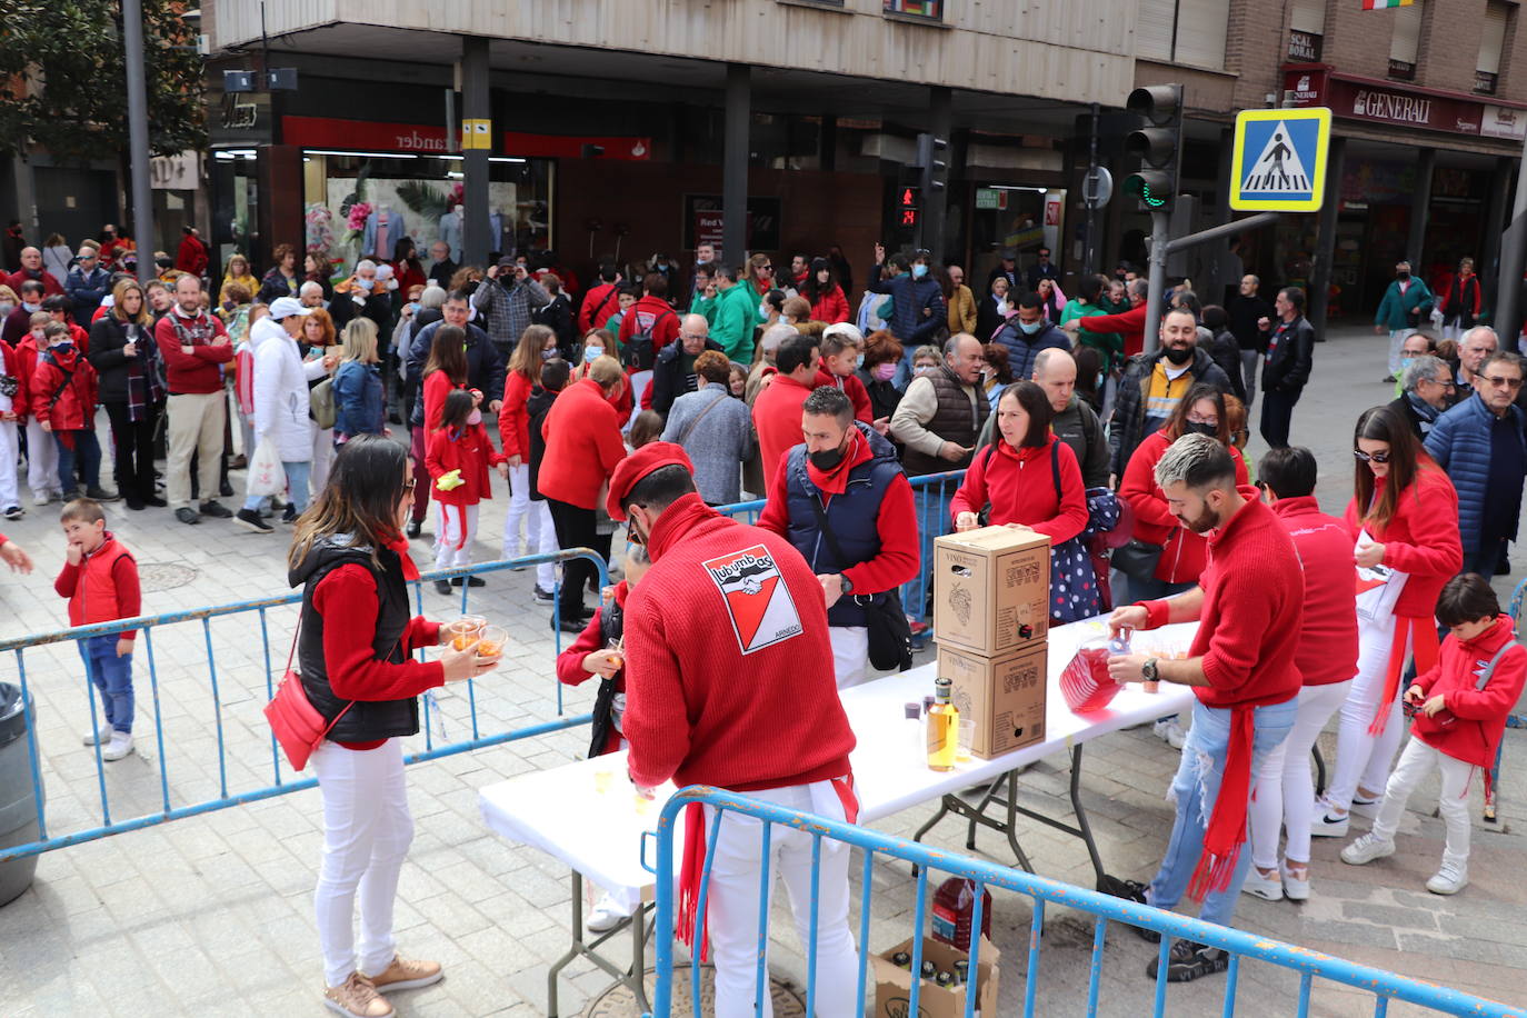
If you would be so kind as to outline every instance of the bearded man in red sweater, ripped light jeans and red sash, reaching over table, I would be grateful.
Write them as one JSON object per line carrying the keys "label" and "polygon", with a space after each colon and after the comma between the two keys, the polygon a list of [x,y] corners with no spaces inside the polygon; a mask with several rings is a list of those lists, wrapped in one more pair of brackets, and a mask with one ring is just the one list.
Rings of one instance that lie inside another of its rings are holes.
{"label": "bearded man in red sweater, ripped light jeans and red sash, reaching over table", "polygon": [[[1116,682],[1194,687],[1193,728],[1168,797],[1177,817],[1161,870],[1147,888],[1125,881],[1136,900],[1174,908],[1203,902],[1199,917],[1231,925],[1251,852],[1245,852],[1252,775],[1293,726],[1299,693],[1295,649],[1304,620],[1304,574],[1289,531],[1257,498],[1235,485],[1235,461],[1211,435],[1183,435],[1156,464],[1156,484],[1183,527],[1209,539],[1200,586],[1168,600],[1121,607],[1115,633],[1197,620],[1185,661],[1118,655]],[[1153,931],[1136,928],[1147,940]],[[1167,978],[1186,983],[1223,972],[1225,951],[1174,940]],[[1157,958],[1147,974],[1156,978]]]}

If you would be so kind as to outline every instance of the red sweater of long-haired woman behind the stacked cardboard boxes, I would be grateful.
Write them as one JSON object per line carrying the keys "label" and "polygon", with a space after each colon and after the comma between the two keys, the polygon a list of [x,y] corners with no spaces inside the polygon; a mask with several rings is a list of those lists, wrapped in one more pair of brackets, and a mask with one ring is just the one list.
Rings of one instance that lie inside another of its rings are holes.
{"label": "red sweater of long-haired woman behind the stacked cardboard boxes", "polygon": [[[1060,459],[1060,493],[1051,449]],[[1014,449],[999,438],[988,455],[977,450],[965,481],[950,499],[950,519],[979,513],[991,502],[991,523],[1023,523],[1052,545],[1070,540],[1087,525],[1087,488],[1070,446],[1054,435],[1043,446]]]}

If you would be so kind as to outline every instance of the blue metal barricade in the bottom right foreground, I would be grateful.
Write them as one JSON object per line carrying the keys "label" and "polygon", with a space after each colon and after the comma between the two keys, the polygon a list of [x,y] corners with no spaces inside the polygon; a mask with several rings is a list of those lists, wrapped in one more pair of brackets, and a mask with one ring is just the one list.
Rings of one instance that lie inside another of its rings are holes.
{"label": "blue metal barricade in the bottom right foreground", "polygon": [[[1087,1015],[1098,1013],[1098,994],[1099,994],[1099,972],[1102,969],[1102,949],[1107,939],[1109,923],[1122,923],[1127,926],[1141,926],[1145,929],[1154,929],[1161,934],[1159,948],[1159,969],[1156,977],[1156,994],[1154,994],[1154,1009],[1151,1013],[1164,1015],[1167,1013],[1167,955],[1171,949],[1171,942],[1174,939],[1193,940],[1197,943],[1208,945],[1211,948],[1219,948],[1229,954],[1229,968],[1225,974],[1225,1000],[1223,1013],[1226,1016],[1235,1013],[1235,984],[1240,974],[1240,963],[1243,958],[1251,958],[1257,962],[1266,962],[1269,965],[1289,969],[1299,977],[1298,991],[1298,1009],[1296,1015],[1306,1018],[1310,1012],[1310,997],[1315,986],[1315,980],[1324,980],[1327,983],[1336,983],[1341,986],[1348,986],[1365,994],[1373,994],[1374,1004],[1373,1013],[1376,1018],[1383,1018],[1391,1000],[1405,1001],[1409,1004],[1417,1004],[1420,1007],[1428,1007],[1434,1012],[1445,1015],[1475,1015],[1480,1018],[1527,1018],[1527,1010],[1521,1007],[1510,1007],[1495,1001],[1484,1000],[1481,997],[1472,997],[1455,989],[1448,989],[1445,986],[1434,986],[1431,983],[1422,983],[1419,980],[1408,978],[1405,975],[1397,975],[1394,972],[1385,972],[1383,969],[1370,968],[1367,965],[1356,965],[1353,962],[1345,962],[1318,951],[1309,951],[1278,940],[1270,940],[1267,937],[1258,937],[1240,929],[1231,929],[1228,926],[1219,926],[1214,923],[1202,922],[1199,919],[1190,919],[1186,916],[1179,916],[1176,913],[1162,911],[1159,908],[1151,908],[1150,905],[1139,905],[1119,897],[1110,897],[1107,894],[1099,894],[1096,891],[1089,891],[1080,887],[1070,887],[1067,884],[1060,884],[1057,881],[1048,881],[1041,876],[1034,876],[1022,870],[1012,870],[994,862],[986,862],[982,859],[973,859],[968,856],[959,856],[944,852],[936,847],[918,844],[915,841],[907,841],[906,838],[895,838],[864,827],[855,827],[851,824],[837,823],[826,820],[823,817],[814,817],[809,813],[800,813],[791,809],[776,806],[773,803],[765,803],[756,798],[748,798],[745,795],[738,795],[733,792],[724,792],[709,786],[692,786],[680,789],[663,807],[663,813],[658,820],[658,849],[657,849],[657,868],[655,873],[673,873],[673,832],[675,821],[678,820],[678,812],[689,803],[704,803],[716,809],[716,824],[712,827],[709,835],[709,842],[713,846],[716,841],[716,830],[719,830],[719,821],[725,812],[733,812],[741,817],[753,817],[760,821],[760,841],[762,841],[762,871],[759,875],[760,888],[767,888],[773,882],[773,873],[770,870],[770,839],[774,826],[788,827],[794,830],[803,830],[812,838],[812,868],[811,868],[811,900],[809,900],[809,939],[815,943],[817,937],[817,902],[820,896],[820,878],[822,878],[822,842],[838,841],[863,852],[863,879],[860,890],[860,923],[858,923],[858,1006],[852,1013],[864,1013],[864,975],[869,960],[869,919],[870,905],[875,890],[873,879],[873,864],[875,858],[883,856],[886,859],[904,859],[916,865],[916,910],[913,917],[913,926],[909,931],[912,936],[912,972],[918,972],[922,963],[922,931],[927,920],[927,902],[928,902],[928,875],[947,873],[950,876],[960,876],[976,882],[974,888],[974,914],[971,916],[971,929],[982,928],[982,897],[986,888],[1005,888],[1017,894],[1023,894],[1032,900],[1032,922],[1028,943],[1028,966],[1025,969],[1025,992],[1023,992],[1023,1015],[1032,1015],[1038,992],[1038,974],[1041,962],[1041,948],[1044,939],[1041,931],[1044,928],[1044,908],[1046,905],[1064,905],[1066,908],[1075,908],[1087,913],[1093,917],[1093,943],[1092,943],[1092,972],[1087,984]],[[705,870],[702,875],[699,910],[695,917],[695,943],[701,942],[701,925],[704,923],[705,907],[704,894],[710,884],[710,862],[715,853],[707,853]],[[768,968],[767,968],[767,951],[768,951],[768,907],[759,910],[759,940],[757,940],[757,977],[754,984],[756,1000],[762,1000],[767,991]],[[658,1018],[667,1018],[673,1003],[673,881],[660,879],[657,881],[657,986],[652,994],[652,1015]],[[803,945],[805,946],[805,945]],[[980,937],[976,937],[971,943],[970,954],[970,971],[979,971],[980,965]],[[921,983],[913,977],[910,1000],[906,1003],[907,1015],[922,1013],[918,1009],[918,997],[921,991]],[[690,1013],[701,1013],[699,1007],[699,966],[692,966],[690,969],[690,1004],[693,1010]],[[970,992],[965,997],[965,1018],[973,1018],[976,1009],[976,992]],[[806,1013],[814,1013],[814,1004],[817,1000],[817,971],[814,951],[808,948],[806,951]],[[1249,1013],[1269,1013],[1267,1001],[1252,1001],[1246,1009]],[[1281,1009],[1280,1009],[1281,1013]]]}

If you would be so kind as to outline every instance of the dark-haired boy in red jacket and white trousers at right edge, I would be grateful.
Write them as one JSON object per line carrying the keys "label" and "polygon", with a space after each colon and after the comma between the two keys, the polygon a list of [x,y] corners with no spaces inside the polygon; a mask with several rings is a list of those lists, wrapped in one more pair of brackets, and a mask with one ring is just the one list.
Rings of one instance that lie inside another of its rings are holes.
{"label": "dark-haired boy in red jacket and white trousers at right edge", "polygon": [[1405,690],[1414,710],[1411,740],[1383,786],[1373,830],[1341,850],[1353,865],[1394,855],[1394,830],[1405,803],[1432,768],[1441,775],[1437,807],[1448,826],[1441,867],[1426,881],[1432,894],[1457,894],[1469,884],[1469,778],[1490,763],[1527,679],[1527,649],[1516,643],[1512,620],[1501,615],[1495,591],[1469,572],[1448,580],[1437,598],[1437,621],[1448,627],[1437,664]]}

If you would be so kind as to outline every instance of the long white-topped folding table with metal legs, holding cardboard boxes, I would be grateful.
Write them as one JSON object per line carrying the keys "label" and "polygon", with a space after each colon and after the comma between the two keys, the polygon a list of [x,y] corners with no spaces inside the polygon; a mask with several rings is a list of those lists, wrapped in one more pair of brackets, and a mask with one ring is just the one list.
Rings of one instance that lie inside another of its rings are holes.
{"label": "long white-topped folding table with metal legs, holding cardboard boxes", "polygon": [[[1196,627],[1186,623],[1136,633],[1135,649],[1151,650],[1162,656],[1185,652]],[[991,827],[1006,835],[1017,862],[1032,871],[1015,830],[1017,817],[1022,813],[1081,838],[1101,882],[1102,859],[1078,798],[1083,745],[1121,728],[1176,714],[1193,704],[1193,690],[1188,687],[1162,684],[1159,693],[1145,693],[1139,685],[1128,685],[1109,707],[1073,714],[1061,696],[1060,673],[1083,641],[1101,633],[1102,623],[1096,620],[1051,630],[1043,742],[993,760],[971,759],[957,763],[953,771],[928,769],[921,723],[906,720],[902,711],[904,704],[921,702],[933,691],[936,664],[930,662],[846,690],[841,696],[843,708],[858,740],[849,760],[860,801],[860,823],[870,823],[910,806],[938,800],[938,812],[918,830],[918,838],[944,817],[956,813],[970,823],[968,847],[974,847],[976,824]],[[1015,803],[1019,771],[1061,751],[1070,755],[1070,804],[1077,817],[1075,826]],[[959,797],[962,789],[986,783],[991,788],[979,803]],[[625,752],[612,752],[551,771],[524,774],[490,784],[478,794],[483,820],[492,830],[510,841],[541,849],[565,862],[573,871],[573,943],[547,974],[547,1013],[551,1018],[557,1015],[557,975],[577,957],[588,957],[631,987],[646,1009],[641,983],[646,969],[644,908],[637,908],[628,923],[585,940],[583,879],[588,878],[606,891],[628,894],[632,899],[651,899],[654,876],[643,867],[643,836],[655,830],[661,803],[672,792],[673,788],[666,786],[660,789],[657,801],[640,798],[626,778]],[[991,806],[1005,809],[1005,817],[988,815]],[[675,830],[675,838],[681,836],[683,827]],[[597,948],[626,925],[632,931],[632,960],[629,969],[621,969],[600,955]]]}

